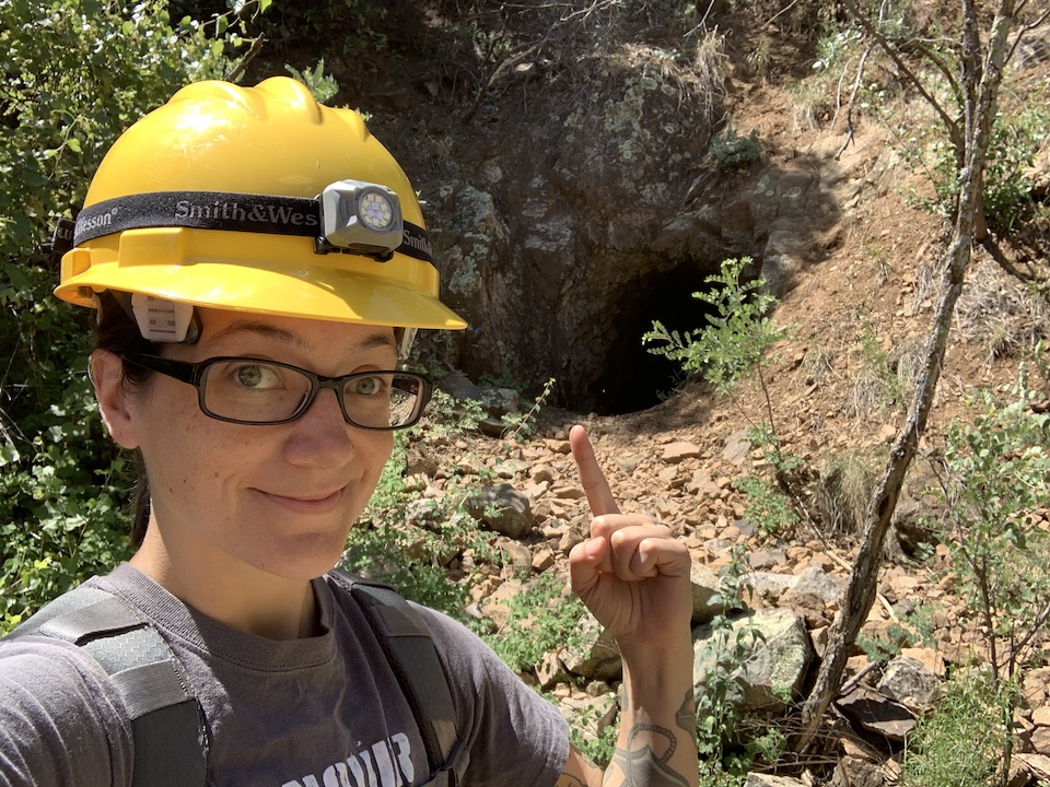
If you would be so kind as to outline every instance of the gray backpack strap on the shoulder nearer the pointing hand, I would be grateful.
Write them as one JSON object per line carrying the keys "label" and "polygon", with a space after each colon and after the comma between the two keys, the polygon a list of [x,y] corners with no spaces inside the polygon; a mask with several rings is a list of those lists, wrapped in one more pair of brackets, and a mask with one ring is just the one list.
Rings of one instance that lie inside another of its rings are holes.
{"label": "gray backpack strap on the shoulder nearer the pointing hand", "polygon": [[419,725],[430,780],[423,787],[455,787],[470,755],[462,745],[448,679],[427,622],[387,585],[331,573],[364,611]]}

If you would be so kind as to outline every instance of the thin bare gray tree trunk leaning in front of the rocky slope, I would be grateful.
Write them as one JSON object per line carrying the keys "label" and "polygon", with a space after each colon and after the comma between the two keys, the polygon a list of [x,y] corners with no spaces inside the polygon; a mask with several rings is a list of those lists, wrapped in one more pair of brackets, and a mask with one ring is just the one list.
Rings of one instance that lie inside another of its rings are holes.
{"label": "thin bare gray tree trunk leaning in front of the rocky slope", "polygon": [[944,362],[948,331],[955,304],[970,262],[982,207],[984,160],[995,103],[1006,57],[1007,38],[1014,15],[1013,0],[1001,0],[989,36],[988,57],[980,62],[980,38],[977,10],[972,0],[964,0],[962,84],[966,96],[964,166],[959,172],[959,197],[944,272],[943,291],[926,345],[925,362],[915,385],[915,392],[903,428],[894,442],[886,470],[867,508],[864,537],[858,548],[853,571],[842,595],[839,613],[828,633],[828,646],[820,663],[813,691],[803,707],[803,727],[795,743],[796,751],[810,747],[828,705],[838,694],[842,673],[861,626],[867,620],[878,586],[883,544],[889,531],[905,473],[926,426]]}

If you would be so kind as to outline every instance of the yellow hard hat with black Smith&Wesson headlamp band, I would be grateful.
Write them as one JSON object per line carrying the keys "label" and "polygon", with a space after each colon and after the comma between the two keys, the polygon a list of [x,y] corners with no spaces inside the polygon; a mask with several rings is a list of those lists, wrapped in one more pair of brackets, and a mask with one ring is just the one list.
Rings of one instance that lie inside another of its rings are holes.
{"label": "yellow hard hat with black Smith&Wesson headlamp band", "polygon": [[[465,328],[438,299],[419,202],[350,109],[299,82],[198,82],[106,154],[60,298],[137,297],[342,322]],[[183,308],[186,308],[184,306]]]}

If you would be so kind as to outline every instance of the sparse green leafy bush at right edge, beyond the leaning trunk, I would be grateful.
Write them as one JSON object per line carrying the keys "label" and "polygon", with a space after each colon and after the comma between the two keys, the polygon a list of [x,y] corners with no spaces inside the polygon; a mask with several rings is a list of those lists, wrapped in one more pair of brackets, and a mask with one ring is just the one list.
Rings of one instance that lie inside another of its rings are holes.
{"label": "sparse green leafy bush at right edge, beyond the leaning trunk", "polygon": [[[1006,395],[1005,397],[1003,395]],[[958,592],[983,634],[987,672],[949,681],[920,723],[901,784],[1006,784],[1022,672],[1042,663],[1050,610],[1050,536],[1034,514],[1050,506],[1050,414],[1023,364],[1016,385],[977,397],[970,422],[947,432],[943,518],[928,522],[952,549]]]}

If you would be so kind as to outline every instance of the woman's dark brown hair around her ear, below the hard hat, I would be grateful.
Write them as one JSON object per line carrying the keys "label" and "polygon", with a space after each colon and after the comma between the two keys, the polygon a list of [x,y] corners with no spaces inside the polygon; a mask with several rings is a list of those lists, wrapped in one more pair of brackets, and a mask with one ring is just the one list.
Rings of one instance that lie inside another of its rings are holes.
{"label": "woman's dark brown hair around her ear, below the hard hat", "polygon": [[[95,348],[108,350],[116,355],[125,353],[159,354],[155,342],[143,339],[139,326],[125,310],[109,291],[103,292],[98,304],[98,325],[95,329]],[[131,396],[144,396],[149,389],[153,372],[133,364],[124,364],[122,384]],[[142,454],[132,451],[132,472],[135,473],[135,493],[131,497],[131,545],[138,549],[145,538],[145,528],[150,522],[150,481],[145,474]]]}

